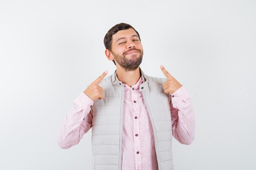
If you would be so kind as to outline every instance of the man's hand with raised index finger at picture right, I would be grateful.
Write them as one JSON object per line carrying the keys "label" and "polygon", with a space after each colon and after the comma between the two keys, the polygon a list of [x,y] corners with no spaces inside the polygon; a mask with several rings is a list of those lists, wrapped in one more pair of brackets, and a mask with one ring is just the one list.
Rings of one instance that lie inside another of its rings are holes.
{"label": "man's hand with raised index finger at picture right", "polygon": [[167,95],[169,93],[174,93],[177,91],[182,85],[173,77],[170,73],[164,68],[163,65],[160,66],[161,70],[163,71],[167,81],[163,83],[164,93]]}

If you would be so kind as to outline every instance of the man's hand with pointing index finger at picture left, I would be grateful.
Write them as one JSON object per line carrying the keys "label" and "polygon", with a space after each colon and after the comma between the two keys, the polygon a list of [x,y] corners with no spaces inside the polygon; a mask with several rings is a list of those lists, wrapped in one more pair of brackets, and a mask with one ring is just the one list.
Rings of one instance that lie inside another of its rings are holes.
{"label": "man's hand with pointing index finger at picture left", "polygon": [[108,74],[108,71],[105,71],[102,75],[100,75],[94,82],[92,82],[86,90],[83,92],[85,95],[88,95],[90,99],[95,101],[96,99],[103,99],[103,88],[99,86],[100,82],[103,80],[103,78]]}

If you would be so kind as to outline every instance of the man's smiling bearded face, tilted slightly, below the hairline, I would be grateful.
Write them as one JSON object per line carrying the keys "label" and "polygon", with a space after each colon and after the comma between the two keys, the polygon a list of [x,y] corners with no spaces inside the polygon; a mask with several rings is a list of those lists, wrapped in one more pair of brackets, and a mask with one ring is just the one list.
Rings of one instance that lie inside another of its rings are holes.
{"label": "man's smiling bearded face, tilted slightly, below the hairline", "polygon": [[133,71],[139,67],[143,57],[143,48],[134,29],[121,30],[112,35],[110,55],[125,71]]}

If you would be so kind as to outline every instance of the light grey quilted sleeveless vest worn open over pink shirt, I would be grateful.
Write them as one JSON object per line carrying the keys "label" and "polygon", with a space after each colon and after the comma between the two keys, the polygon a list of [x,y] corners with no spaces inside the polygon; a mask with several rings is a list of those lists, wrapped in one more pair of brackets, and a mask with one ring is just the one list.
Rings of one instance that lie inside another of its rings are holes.
{"label": "light grey quilted sleeveless vest worn open over pink shirt", "polygon": [[[173,170],[171,95],[162,88],[166,78],[150,77],[139,69],[143,79],[139,91],[154,131],[158,169]],[[92,170],[121,170],[124,86],[116,71],[101,81],[104,98],[91,108]]]}

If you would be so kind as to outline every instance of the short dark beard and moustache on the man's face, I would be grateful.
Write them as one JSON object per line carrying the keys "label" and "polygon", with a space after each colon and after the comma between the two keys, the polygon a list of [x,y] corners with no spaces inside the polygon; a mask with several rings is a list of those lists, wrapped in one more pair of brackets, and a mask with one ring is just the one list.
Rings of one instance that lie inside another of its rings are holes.
{"label": "short dark beard and moustache on the man's face", "polygon": [[[137,57],[138,53],[133,53],[130,54],[130,56],[126,57],[126,53],[128,53],[129,51],[132,50],[136,50],[139,52],[139,57]],[[115,58],[115,61],[122,67],[124,68],[125,71],[134,71],[136,70],[139,65],[142,62],[142,58],[143,58],[143,50],[139,50],[139,49],[130,49],[126,52],[123,53],[123,55],[117,55],[115,53],[113,53],[113,56]]]}

